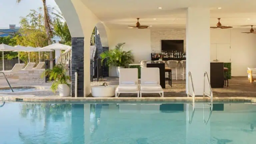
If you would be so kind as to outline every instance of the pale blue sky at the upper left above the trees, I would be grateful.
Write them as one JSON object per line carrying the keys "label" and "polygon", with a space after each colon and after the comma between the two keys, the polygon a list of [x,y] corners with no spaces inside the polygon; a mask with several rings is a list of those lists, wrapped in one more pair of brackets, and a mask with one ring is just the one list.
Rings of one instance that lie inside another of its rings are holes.
{"label": "pale blue sky at the upper left above the trees", "polygon": [[[54,0],[46,0],[47,6],[58,6]],[[9,24],[20,26],[20,17],[25,17],[31,9],[37,10],[43,7],[42,0],[22,0],[17,4],[16,0],[0,0],[0,29],[9,28]]]}

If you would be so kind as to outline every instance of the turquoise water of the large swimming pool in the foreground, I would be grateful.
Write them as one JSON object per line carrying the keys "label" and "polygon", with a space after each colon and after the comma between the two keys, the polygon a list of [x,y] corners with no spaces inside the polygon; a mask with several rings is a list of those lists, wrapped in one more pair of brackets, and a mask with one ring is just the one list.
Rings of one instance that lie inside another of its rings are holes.
{"label": "turquoise water of the large swimming pool in the foreground", "polygon": [[255,144],[256,105],[0,102],[1,144]]}

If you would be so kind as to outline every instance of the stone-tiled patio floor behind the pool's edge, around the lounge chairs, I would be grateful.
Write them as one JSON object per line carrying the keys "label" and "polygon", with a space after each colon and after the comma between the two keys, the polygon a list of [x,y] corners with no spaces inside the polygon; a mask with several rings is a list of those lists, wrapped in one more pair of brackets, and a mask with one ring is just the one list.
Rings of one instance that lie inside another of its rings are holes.
{"label": "stone-tiled patio floor behind the pool's edge, around the lounge chairs", "polygon": [[[8,78],[12,86],[51,86],[51,83],[45,83],[43,80],[32,80],[32,81],[20,81],[18,77],[9,77]],[[91,82],[91,85],[101,85],[103,82],[107,82],[111,85],[118,84],[118,78],[108,77],[101,79],[99,82]],[[186,81],[182,80],[173,80],[173,87],[170,87],[166,81],[166,89],[164,89],[165,97],[186,97],[185,93],[185,83]],[[4,78],[0,77],[0,87],[8,87]],[[12,94],[12,93],[9,93]],[[40,92],[23,92],[15,93],[15,95],[35,95],[38,97],[56,97],[58,94],[53,92],[40,91]],[[213,89],[214,97],[256,97],[256,82],[249,83],[246,77],[232,77],[229,80],[229,87],[224,88],[215,88]],[[120,94],[120,97],[137,97],[136,94]],[[143,94],[143,97],[159,97],[158,94]]]}

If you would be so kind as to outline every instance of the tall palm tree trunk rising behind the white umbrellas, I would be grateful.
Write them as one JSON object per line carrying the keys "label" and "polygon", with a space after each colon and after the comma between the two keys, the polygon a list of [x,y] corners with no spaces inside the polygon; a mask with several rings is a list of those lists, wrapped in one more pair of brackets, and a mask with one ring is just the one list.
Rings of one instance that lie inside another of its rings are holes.
{"label": "tall palm tree trunk rising behind the white umbrellas", "polygon": [[[17,0],[17,3],[20,3],[22,0]],[[51,45],[51,36],[52,36],[52,27],[51,27],[51,17],[49,13],[49,8],[46,6],[46,0],[42,0],[44,8],[44,26],[47,35],[48,45]],[[52,52],[50,52],[50,59],[52,59]]]}

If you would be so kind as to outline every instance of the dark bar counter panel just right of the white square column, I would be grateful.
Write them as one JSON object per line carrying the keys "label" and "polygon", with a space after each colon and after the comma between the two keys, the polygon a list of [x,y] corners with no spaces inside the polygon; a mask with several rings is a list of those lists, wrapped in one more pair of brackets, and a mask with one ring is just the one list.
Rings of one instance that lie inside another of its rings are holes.
{"label": "dark bar counter panel just right of the white square column", "polygon": [[223,88],[224,81],[224,63],[211,62],[210,64],[210,80],[212,88]]}

